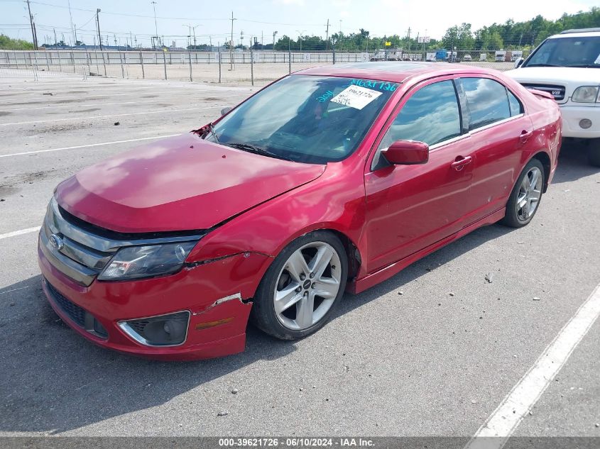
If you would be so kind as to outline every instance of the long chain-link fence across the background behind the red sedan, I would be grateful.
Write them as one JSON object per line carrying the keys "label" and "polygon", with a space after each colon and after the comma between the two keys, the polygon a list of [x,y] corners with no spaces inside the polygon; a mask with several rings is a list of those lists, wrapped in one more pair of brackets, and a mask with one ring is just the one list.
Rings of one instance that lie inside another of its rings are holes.
{"label": "long chain-link fence across the background behind the red sedan", "polygon": [[[285,74],[320,65],[378,60],[442,60],[497,70],[513,68],[511,52],[300,51],[0,51],[0,78],[117,77],[192,82],[266,84]],[[437,57],[436,57],[437,56]],[[525,55],[523,55],[525,56]]]}

